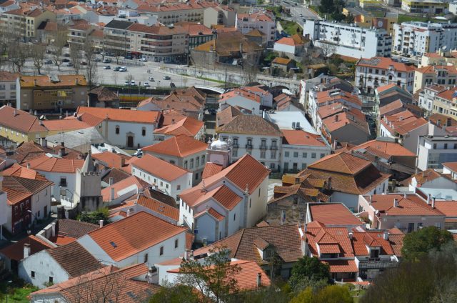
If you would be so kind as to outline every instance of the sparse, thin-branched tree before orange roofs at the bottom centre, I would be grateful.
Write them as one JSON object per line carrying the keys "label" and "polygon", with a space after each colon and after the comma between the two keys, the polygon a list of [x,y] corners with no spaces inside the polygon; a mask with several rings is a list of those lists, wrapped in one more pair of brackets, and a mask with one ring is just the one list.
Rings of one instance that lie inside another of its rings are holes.
{"label": "sparse, thin-branched tree before orange roofs at the bottom centre", "polygon": [[240,267],[231,264],[230,251],[224,247],[210,249],[203,261],[189,259],[181,263],[178,282],[195,287],[204,297],[214,297],[217,303],[224,297],[238,292],[238,282],[234,278]]}

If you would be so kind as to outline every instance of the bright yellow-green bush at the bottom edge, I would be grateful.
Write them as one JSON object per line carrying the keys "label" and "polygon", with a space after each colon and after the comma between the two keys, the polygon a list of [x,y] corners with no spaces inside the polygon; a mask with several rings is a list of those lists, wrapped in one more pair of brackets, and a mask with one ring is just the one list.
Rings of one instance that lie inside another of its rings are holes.
{"label": "bright yellow-green bush at the bottom edge", "polygon": [[327,285],[317,292],[313,292],[311,287],[291,299],[291,303],[352,303],[353,299],[346,286]]}

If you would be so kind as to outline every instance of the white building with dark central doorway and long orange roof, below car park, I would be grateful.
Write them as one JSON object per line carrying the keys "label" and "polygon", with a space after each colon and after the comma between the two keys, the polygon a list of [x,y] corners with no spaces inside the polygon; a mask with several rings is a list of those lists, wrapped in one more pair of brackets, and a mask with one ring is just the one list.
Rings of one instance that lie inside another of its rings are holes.
{"label": "white building with dark central doorway and long orange roof, below car park", "polygon": [[[159,125],[157,111],[131,111],[129,109],[109,109],[79,106],[76,114],[91,114],[104,119],[101,135],[119,147],[137,149],[154,142],[154,130]],[[84,119],[84,118],[83,118]]]}

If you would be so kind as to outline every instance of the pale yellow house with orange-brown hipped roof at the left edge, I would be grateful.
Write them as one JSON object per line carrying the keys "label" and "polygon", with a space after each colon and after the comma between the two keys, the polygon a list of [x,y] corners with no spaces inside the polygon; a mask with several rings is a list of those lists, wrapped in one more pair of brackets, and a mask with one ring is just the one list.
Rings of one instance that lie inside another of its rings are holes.
{"label": "pale yellow house with orange-brown hipped roof at the left edge", "polygon": [[0,107],[0,136],[16,142],[36,141],[46,137],[48,129],[36,116],[11,106]]}

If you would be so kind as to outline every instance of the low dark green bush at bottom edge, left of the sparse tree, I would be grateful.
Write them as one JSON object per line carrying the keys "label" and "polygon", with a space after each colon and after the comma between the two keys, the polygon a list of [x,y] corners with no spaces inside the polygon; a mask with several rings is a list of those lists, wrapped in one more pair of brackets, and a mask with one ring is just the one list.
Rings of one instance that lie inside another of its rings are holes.
{"label": "low dark green bush at bottom edge, left of the sparse tree", "polygon": [[186,285],[164,285],[149,299],[149,303],[199,303],[201,298],[192,287]]}

